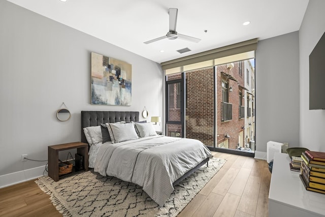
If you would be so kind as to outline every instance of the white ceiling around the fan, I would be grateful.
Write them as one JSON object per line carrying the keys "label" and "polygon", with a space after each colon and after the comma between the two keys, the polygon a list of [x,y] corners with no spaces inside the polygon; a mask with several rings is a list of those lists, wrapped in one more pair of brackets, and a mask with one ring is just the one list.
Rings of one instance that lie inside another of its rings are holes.
{"label": "white ceiling around the fan", "polygon": [[[161,63],[246,41],[299,30],[309,0],[7,0],[81,32]],[[179,34],[202,39],[143,42],[169,31],[178,8]],[[245,21],[251,23],[243,26]],[[204,32],[207,30],[207,33]],[[183,54],[176,50],[188,47]],[[165,52],[160,52],[164,50]]]}

